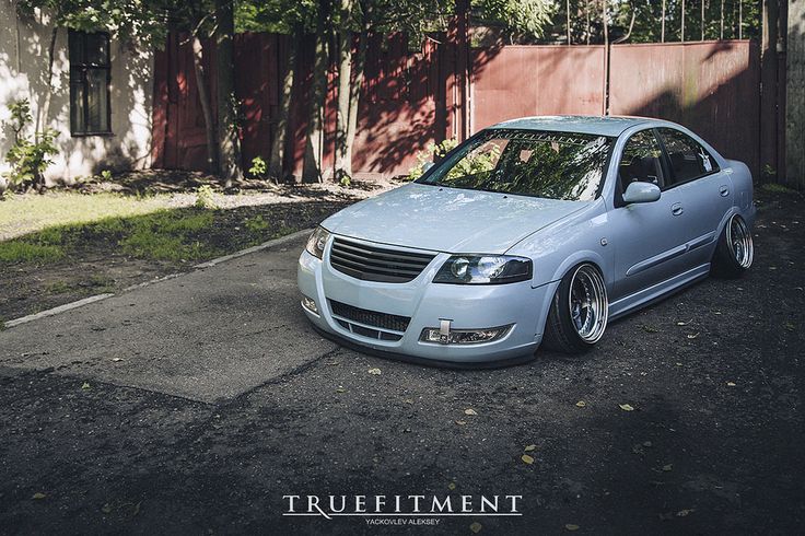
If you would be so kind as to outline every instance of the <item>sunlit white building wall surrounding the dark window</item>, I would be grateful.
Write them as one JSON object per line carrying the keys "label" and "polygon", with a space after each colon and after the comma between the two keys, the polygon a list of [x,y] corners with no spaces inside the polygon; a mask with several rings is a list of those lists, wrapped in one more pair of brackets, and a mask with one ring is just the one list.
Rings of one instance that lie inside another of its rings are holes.
{"label": "sunlit white building wall surrounding the dark window", "polygon": [[[48,88],[47,60],[52,26],[43,13],[32,20],[21,20],[12,1],[0,0],[0,174],[9,168],[5,153],[13,142],[7,105],[28,98],[36,120],[48,93],[49,114],[43,123],[59,132],[57,144],[60,149],[46,173],[48,183],[72,184],[79,177],[103,170],[150,166],[153,54],[135,50],[113,38],[109,47],[113,136],[72,138],[67,30],[58,31],[54,78]],[[33,127],[27,133],[33,133]]]}

